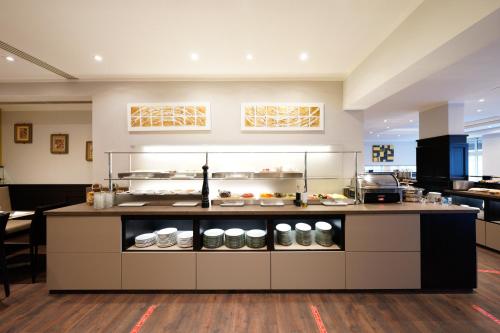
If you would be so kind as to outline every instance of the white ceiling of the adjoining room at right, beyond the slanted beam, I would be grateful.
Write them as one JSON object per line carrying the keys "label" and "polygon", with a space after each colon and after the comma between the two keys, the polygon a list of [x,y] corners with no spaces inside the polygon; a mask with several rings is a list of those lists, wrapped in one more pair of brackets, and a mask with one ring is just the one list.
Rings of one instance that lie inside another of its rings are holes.
{"label": "white ceiling of the adjoining room at right, beyond the slanted beam", "polygon": [[418,110],[447,101],[464,103],[467,134],[500,130],[500,35],[488,47],[365,110],[365,139],[416,140]]}

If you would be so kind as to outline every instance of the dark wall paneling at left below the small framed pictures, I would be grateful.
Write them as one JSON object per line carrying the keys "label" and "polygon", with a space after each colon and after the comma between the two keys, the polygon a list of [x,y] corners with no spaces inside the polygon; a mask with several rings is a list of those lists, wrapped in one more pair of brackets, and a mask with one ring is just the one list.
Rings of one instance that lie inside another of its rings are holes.
{"label": "dark wall paneling at left below the small framed pictures", "polygon": [[90,184],[12,184],[9,187],[13,210],[34,210],[38,206],[85,202],[85,188]]}

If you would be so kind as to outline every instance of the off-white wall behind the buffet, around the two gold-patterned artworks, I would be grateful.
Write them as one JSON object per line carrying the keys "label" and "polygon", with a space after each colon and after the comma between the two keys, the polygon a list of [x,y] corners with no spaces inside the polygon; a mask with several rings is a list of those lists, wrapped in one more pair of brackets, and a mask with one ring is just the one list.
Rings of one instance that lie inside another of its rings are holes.
{"label": "off-white wall behind the buffet, around the two gold-patterned artworks", "polygon": [[[255,144],[337,145],[363,149],[362,112],[342,110],[341,82],[72,82],[0,83],[0,101],[92,100],[94,163],[92,180],[106,177],[105,151],[139,149],[150,145]],[[208,101],[210,132],[129,133],[127,103]],[[241,102],[325,103],[323,132],[243,133]]]}

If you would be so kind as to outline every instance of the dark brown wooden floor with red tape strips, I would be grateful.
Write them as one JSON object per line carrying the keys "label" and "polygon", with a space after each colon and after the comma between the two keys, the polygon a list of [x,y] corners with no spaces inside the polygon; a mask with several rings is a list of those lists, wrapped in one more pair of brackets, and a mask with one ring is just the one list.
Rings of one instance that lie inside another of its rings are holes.
{"label": "dark brown wooden floor with red tape strips", "polygon": [[469,294],[63,295],[25,269],[0,301],[0,332],[131,332],[138,322],[140,332],[500,332],[500,275],[482,272],[498,272],[500,254],[478,248],[478,269]]}

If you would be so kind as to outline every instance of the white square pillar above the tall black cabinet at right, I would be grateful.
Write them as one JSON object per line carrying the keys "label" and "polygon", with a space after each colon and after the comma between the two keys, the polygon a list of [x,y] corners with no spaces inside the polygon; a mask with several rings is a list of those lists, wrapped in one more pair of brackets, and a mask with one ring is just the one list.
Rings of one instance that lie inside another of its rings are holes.
{"label": "white square pillar above the tall black cabinet at right", "polygon": [[421,111],[419,119],[419,139],[442,135],[464,134],[464,104],[446,103]]}

